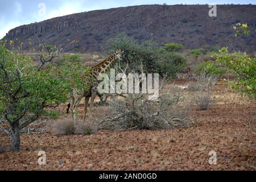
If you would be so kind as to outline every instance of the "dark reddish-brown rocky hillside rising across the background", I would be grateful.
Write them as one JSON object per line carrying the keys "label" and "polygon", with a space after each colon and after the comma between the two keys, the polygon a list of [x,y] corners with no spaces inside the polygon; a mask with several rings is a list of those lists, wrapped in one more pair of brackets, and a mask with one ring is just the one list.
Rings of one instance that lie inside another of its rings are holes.
{"label": "dark reddish-brown rocky hillside rising across the background", "polygon": [[[30,49],[28,39],[36,42],[39,37],[63,45],[66,52],[97,52],[106,40],[125,32],[138,41],[175,42],[186,48],[209,44],[256,51],[255,5],[217,5],[216,17],[209,10],[208,5],[143,5],[89,11],[16,27],[4,39],[18,38],[24,49]],[[249,23],[250,36],[234,36],[232,26],[238,22]],[[71,46],[72,40],[78,43]]]}

